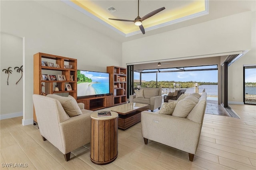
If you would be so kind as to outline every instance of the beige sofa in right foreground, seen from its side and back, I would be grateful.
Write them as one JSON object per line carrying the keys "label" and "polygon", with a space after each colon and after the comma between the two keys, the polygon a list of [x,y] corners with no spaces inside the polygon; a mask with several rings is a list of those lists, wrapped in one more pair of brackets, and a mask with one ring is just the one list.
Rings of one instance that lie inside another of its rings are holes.
{"label": "beige sofa in right foreground, seen from its side and back", "polygon": [[[178,102],[188,102],[188,99],[185,98]],[[141,113],[142,136],[145,144],[150,139],[188,152],[189,160],[193,161],[204,119],[206,93],[202,93],[198,103],[192,107],[188,116],[185,116],[186,118],[173,116],[174,113],[182,113],[187,109],[186,106],[180,107],[179,105],[178,107],[178,102],[172,115],[159,114],[160,111],[154,113],[143,111]]]}

